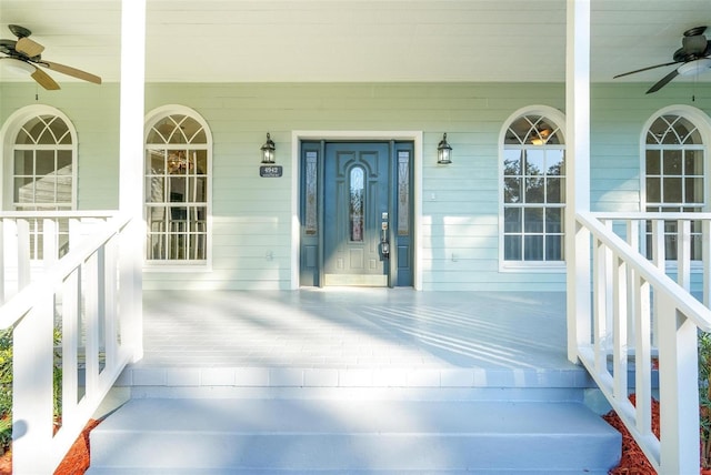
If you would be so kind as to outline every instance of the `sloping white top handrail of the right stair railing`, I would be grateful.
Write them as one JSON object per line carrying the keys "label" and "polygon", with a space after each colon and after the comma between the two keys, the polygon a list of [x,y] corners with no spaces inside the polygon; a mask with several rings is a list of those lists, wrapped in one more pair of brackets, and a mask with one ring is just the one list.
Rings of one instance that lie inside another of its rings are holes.
{"label": "sloping white top handrail of the right stair railing", "polygon": [[689,299],[688,292],[677,284],[677,282],[671,280],[667,274],[649,262],[649,260],[634,251],[620,236],[609,232],[604,225],[598,221],[598,215],[595,213],[578,212],[575,214],[575,219],[584,224],[597,239],[604,243],[604,245],[623,257],[639,275],[647,280],[647,282],[652,284],[654,286],[654,292],[667,294],[674,301],[677,307],[699,329],[704,332],[711,331],[711,310],[707,309],[695,299]]}

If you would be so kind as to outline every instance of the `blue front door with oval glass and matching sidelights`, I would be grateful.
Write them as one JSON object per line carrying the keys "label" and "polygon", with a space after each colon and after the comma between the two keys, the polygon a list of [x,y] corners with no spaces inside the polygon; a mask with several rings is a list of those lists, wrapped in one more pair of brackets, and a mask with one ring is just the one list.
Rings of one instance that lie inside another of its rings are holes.
{"label": "blue front door with oval glass and matching sidelights", "polygon": [[301,144],[301,285],[412,285],[411,142]]}

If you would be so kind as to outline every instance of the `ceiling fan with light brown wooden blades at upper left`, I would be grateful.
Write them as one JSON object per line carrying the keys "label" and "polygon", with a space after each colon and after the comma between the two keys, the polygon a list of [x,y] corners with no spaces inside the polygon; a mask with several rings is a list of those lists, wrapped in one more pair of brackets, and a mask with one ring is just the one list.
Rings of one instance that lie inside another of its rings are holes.
{"label": "ceiling fan with light brown wooden blades at upper left", "polygon": [[91,74],[69,65],[43,60],[42,51],[44,51],[44,47],[33,40],[30,40],[29,37],[32,32],[27,28],[18,24],[9,24],[8,28],[12,34],[18,37],[18,39],[17,41],[0,40],[0,53],[6,54],[4,57],[0,57],[0,60],[2,60],[0,65],[4,63],[17,70],[29,73],[38,84],[50,91],[60,89],[59,84],[41,68],[61,72],[62,74],[71,75],[72,78],[81,79],[83,81],[93,82],[94,84],[101,84],[101,78],[96,74]]}

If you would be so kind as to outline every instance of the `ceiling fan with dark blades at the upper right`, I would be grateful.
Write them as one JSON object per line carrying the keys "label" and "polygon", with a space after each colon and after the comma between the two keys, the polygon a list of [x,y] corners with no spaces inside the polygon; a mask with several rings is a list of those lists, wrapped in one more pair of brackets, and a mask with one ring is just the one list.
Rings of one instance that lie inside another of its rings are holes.
{"label": "ceiling fan with dark blades at the upper right", "polygon": [[709,58],[711,57],[711,41],[707,40],[707,37],[703,34],[705,30],[707,27],[695,27],[684,31],[684,36],[681,39],[681,48],[674,51],[674,55],[672,57],[673,61],[624,72],[615,75],[613,79],[649,71],[650,69],[680,64],[652,85],[649,91],[647,91],[649,94],[659,91],[678,75],[691,75],[708,71],[711,69],[711,58]]}

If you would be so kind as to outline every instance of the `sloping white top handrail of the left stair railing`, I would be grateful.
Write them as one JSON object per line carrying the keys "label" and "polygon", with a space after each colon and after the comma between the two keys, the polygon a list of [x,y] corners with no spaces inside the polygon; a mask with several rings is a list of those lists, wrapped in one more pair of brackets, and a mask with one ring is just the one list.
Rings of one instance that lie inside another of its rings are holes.
{"label": "sloping white top handrail of the left stair railing", "polygon": [[57,264],[42,274],[37,281],[23,287],[10,301],[0,307],[0,330],[8,329],[22,320],[34,305],[39,295],[53,293],[67,275],[79,267],[99,247],[106,244],[129,223],[130,216],[116,215],[102,228],[83,240],[76,249],[70,250]]}

